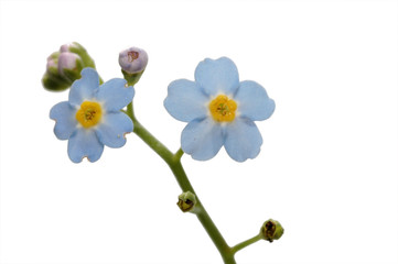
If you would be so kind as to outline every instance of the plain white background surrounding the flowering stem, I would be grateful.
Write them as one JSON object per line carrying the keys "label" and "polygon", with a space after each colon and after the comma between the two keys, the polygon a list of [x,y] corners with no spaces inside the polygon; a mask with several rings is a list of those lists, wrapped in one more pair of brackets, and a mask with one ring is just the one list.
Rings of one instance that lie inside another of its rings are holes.
{"label": "plain white background surrounding the flowering stem", "polygon": [[172,151],[184,123],[168,85],[205,57],[230,57],[267,88],[263,145],[239,164],[223,150],[185,169],[230,245],[268,218],[286,233],[238,263],[398,261],[397,1],[0,1],[0,262],[222,263],[164,163],[135,134],[73,164],[41,85],[46,57],[77,41],[107,80],[118,53],[144,48],[139,120]]}

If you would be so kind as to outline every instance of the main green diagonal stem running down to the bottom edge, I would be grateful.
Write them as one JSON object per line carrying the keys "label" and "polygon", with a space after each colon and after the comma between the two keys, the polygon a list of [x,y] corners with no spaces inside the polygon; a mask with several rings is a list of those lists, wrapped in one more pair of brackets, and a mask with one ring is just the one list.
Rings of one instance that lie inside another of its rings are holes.
{"label": "main green diagonal stem running down to the bottom edge", "polygon": [[173,172],[176,182],[179,183],[183,191],[191,191],[196,196],[196,208],[198,209],[195,213],[203,228],[206,230],[207,234],[212,239],[213,243],[220,253],[225,264],[236,264],[235,252],[232,248],[228,246],[223,235],[218,231],[217,227],[213,222],[212,218],[208,216],[206,209],[202,205],[197,195],[195,194],[189,178],[186,177],[185,170],[181,164],[181,157],[184,152],[180,148],[175,154],[170,152],[161,142],[159,142],[136,118],[132,102],[127,106],[127,111],[125,111],[133,122],[135,129],[133,132],[141,138],[155,153],[163,158],[163,161],[169,165]]}

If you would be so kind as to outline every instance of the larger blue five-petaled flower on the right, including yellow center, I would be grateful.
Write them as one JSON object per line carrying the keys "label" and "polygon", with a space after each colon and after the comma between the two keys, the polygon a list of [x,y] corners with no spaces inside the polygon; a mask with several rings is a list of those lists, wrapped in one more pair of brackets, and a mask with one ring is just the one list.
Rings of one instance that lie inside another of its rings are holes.
{"label": "larger blue five-petaled flower on the right, including yellow center", "polygon": [[273,113],[275,101],[259,84],[239,82],[238,70],[227,57],[201,62],[195,81],[178,79],[169,85],[164,107],[187,122],[182,150],[198,161],[214,157],[224,145],[237,162],[255,158],[262,138],[254,121]]}

